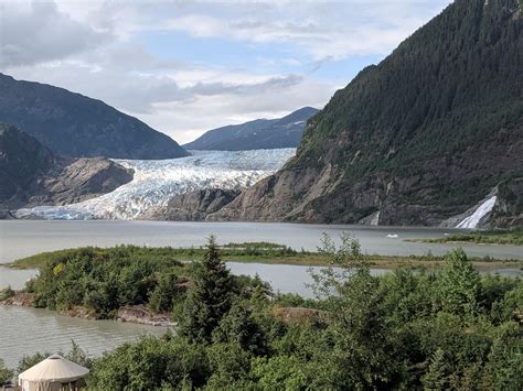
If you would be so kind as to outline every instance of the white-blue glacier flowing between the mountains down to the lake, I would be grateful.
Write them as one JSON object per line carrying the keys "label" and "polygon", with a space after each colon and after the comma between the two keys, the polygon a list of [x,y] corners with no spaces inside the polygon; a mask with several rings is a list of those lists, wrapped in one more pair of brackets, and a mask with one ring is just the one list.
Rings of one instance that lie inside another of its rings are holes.
{"label": "white-blue glacier flowing between the mountains down to the lake", "polygon": [[15,211],[17,218],[49,220],[135,219],[163,206],[174,195],[206,188],[235,189],[254,185],[280,169],[295,148],[254,151],[190,151],[169,160],[114,161],[135,170],[131,182],[111,193],[76,204],[36,206]]}

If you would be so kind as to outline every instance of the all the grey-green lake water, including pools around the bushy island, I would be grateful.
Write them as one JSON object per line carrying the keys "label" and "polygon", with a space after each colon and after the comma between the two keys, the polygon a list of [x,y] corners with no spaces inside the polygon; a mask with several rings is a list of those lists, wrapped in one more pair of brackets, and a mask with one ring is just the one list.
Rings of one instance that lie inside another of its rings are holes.
{"label": "all the grey-green lake water, including pools around the bushy island", "polygon": [[[17,258],[79,246],[114,246],[120,243],[147,246],[201,246],[214,233],[221,243],[230,241],[274,241],[295,249],[316,250],[320,236],[325,231],[337,238],[342,231],[351,231],[361,242],[364,251],[380,254],[442,254],[452,245],[414,243],[404,239],[441,237],[452,229],[325,226],[296,224],[254,222],[159,222],[159,221],[0,221],[0,263]],[[389,238],[397,235],[398,238]],[[523,259],[521,248],[510,246],[465,247],[477,257]],[[306,286],[311,282],[308,267],[276,265],[260,263],[227,263],[235,274],[259,276],[271,283],[275,291],[295,292],[311,296]],[[314,268],[318,270],[318,268]],[[502,274],[521,274],[520,270],[498,270]],[[373,270],[373,273],[385,273]],[[0,286],[15,289],[36,273],[34,270],[11,270],[0,268]],[[28,354],[39,350],[55,352],[67,350],[71,339],[90,355],[97,356],[141,334],[162,334],[164,328],[125,324],[113,321],[86,321],[56,315],[36,308],[0,306],[0,358],[9,367]]]}

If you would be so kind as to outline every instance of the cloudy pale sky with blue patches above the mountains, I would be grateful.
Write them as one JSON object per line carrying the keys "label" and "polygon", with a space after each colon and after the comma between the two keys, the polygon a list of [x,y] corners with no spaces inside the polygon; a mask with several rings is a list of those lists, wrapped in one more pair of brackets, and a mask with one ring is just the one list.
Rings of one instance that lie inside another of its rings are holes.
{"label": "cloudy pale sky with blue patches above the mountains", "polygon": [[322,108],[450,0],[0,0],[0,72],[81,93],[180,143]]}

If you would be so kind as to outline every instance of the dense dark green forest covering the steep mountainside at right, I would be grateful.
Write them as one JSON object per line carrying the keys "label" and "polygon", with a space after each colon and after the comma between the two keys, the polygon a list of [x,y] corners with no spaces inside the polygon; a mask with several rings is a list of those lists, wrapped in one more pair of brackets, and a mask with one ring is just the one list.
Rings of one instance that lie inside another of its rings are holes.
{"label": "dense dark green forest covering the steep mountainside at right", "polygon": [[[334,95],[291,166],[339,164],[346,184],[377,173],[412,178],[395,202],[448,207],[473,205],[504,178],[523,175],[520,7],[455,1]],[[500,146],[514,159],[492,162]]]}

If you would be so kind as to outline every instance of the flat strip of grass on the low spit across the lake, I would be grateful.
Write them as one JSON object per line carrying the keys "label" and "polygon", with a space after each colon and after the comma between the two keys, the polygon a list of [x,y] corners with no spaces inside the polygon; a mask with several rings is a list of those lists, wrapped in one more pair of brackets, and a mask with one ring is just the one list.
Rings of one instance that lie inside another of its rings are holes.
{"label": "flat strip of grass on the low spit across the lake", "polygon": [[[51,252],[42,252],[31,257],[19,259],[9,264],[14,269],[38,269],[49,260],[57,257],[65,257],[68,253],[76,252],[78,249],[66,249]],[[191,248],[172,248],[172,247],[136,247],[134,257],[150,258],[154,257],[158,260],[178,260],[178,261],[198,261],[205,252],[203,247]],[[227,243],[221,246],[222,258],[231,262],[245,263],[269,263],[269,264],[297,264],[297,265],[329,265],[329,259],[319,252],[311,251],[296,251],[287,246],[269,243],[269,242],[244,242],[244,243]],[[445,262],[442,257],[426,256],[409,256],[409,257],[393,257],[366,254],[366,261],[373,267],[394,269],[402,265],[437,268]],[[523,261],[520,260],[497,260],[492,258],[476,258],[471,259],[478,267],[516,267],[522,268]]]}

